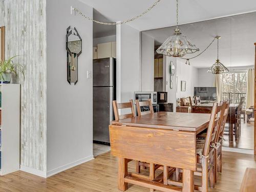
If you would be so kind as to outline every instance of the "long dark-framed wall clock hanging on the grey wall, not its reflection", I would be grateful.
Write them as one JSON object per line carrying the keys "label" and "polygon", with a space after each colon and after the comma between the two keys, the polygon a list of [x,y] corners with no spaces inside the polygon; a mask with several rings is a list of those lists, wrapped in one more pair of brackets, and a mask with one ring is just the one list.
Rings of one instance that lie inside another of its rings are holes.
{"label": "long dark-framed wall clock hanging on the grey wall, not its reflection", "polygon": [[71,83],[78,81],[78,57],[82,53],[82,39],[78,34],[76,28],[67,28],[66,35],[66,49],[67,49],[67,80]]}

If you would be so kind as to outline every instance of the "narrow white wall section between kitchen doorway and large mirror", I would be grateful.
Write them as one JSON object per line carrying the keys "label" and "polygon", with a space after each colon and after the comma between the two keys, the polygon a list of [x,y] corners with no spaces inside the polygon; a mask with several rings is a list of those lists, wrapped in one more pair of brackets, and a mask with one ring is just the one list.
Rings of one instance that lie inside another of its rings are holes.
{"label": "narrow white wall section between kitchen doorway and large mirror", "polygon": [[134,99],[141,90],[140,32],[126,24],[117,26],[117,100]]}

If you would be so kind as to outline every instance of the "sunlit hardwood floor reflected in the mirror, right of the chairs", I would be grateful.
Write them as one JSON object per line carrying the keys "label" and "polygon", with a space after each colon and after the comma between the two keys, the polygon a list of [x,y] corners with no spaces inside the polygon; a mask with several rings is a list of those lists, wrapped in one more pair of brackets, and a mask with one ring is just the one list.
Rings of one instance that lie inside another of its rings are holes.
{"label": "sunlit hardwood floor reflected in the mirror, right of the chairs", "polygon": [[241,137],[238,141],[233,139],[233,141],[228,141],[228,136],[224,135],[225,141],[223,141],[223,146],[233,147],[233,148],[246,148],[248,150],[254,149],[254,121],[249,121],[249,123],[241,120]]}

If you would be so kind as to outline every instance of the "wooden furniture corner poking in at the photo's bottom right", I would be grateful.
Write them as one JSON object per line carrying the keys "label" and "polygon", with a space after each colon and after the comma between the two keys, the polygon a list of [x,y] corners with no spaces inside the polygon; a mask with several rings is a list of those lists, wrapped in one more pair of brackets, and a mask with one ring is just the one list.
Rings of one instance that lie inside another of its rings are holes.
{"label": "wooden furniture corner poking in at the photo's bottom right", "polygon": [[240,192],[255,191],[256,168],[247,168],[241,185]]}

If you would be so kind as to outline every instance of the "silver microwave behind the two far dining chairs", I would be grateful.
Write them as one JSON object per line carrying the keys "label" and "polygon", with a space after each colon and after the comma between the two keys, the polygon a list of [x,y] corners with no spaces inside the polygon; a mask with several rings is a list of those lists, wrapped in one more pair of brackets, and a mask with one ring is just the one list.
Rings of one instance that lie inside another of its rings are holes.
{"label": "silver microwave behind the two far dining chairs", "polygon": [[[154,112],[159,112],[159,105],[157,104],[157,92],[135,92],[134,93],[134,102],[136,100],[139,101],[147,101],[148,99],[151,99],[153,110]],[[136,109],[136,106],[135,106]],[[148,106],[141,106],[141,111],[149,111],[150,107]],[[136,115],[137,115],[137,109],[136,109]]]}

